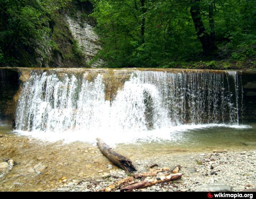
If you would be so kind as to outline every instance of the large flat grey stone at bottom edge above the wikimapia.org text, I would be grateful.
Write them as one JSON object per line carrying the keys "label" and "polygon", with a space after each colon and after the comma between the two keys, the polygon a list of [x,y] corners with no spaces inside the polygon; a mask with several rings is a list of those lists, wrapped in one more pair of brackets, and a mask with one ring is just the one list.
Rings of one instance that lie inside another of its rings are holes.
{"label": "large flat grey stone at bottom edge above the wikimapia.org text", "polygon": [[224,183],[213,183],[213,184],[204,184],[200,187],[198,187],[195,192],[231,192],[233,191],[233,188],[230,185],[224,184]]}

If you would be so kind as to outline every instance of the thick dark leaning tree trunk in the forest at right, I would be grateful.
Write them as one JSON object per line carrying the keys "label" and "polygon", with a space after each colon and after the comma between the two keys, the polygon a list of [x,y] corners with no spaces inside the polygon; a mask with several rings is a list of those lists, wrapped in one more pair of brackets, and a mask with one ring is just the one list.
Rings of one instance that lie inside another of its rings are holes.
{"label": "thick dark leaning tree trunk in the forest at right", "polygon": [[[200,7],[199,7],[200,0],[192,0],[191,3],[192,3],[192,6],[190,8],[190,14],[191,14],[193,23],[195,25],[197,37],[202,43],[203,55],[210,56],[214,54],[218,49],[217,46],[215,45],[214,34],[211,35],[213,36],[213,38],[211,39],[210,35],[206,32],[206,29],[204,27],[204,24],[200,16]],[[212,20],[213,20],[213,15],[211,16],[211,22]]]}

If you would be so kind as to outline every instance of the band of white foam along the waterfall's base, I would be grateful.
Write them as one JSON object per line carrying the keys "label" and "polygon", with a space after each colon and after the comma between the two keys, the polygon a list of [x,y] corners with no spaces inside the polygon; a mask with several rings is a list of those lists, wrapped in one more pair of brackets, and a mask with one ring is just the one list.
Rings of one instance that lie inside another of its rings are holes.
{"label": "band of white foam along the waterfall's base", "polygon": [[204,125],[181,125],[173,126],[172,128],[162,128],[151,131],[110,131],[108,129],[99,129],[87,132],[86,130],[80,131],[64,131],[64,132],[51,132],[51,131],[20,131],[14,132],[19,135],[31,136],[46,142],[63,141],[64,143],[71,143],[75,141],[88,142],[96,144],[96,138],[103,139],[110,146],[118,143],[138,143],[138,142],[162,142],[162,141],[180,141],[183,139],[183,133],[198,129],[209,128],[233,128],[233,129],[248,129],[252,128],[249,125],[227,125],[227,124],[204,124]]}

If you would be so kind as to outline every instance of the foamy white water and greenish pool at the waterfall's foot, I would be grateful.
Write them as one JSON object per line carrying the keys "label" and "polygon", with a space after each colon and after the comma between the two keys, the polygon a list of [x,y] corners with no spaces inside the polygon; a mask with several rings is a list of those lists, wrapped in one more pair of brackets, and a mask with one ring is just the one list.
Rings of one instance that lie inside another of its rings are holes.
{"label": "foamy white water and greenish pool at the waterfall's foot", "polygon": [[[8,127],[5,127],[5,129]],[[14,131],[13,133],[40,139],[46,142],[63,141],[71,143],[82,141],[96,144],[96,138],[102,138],[110,146],[118,144],[149,145],[159,144],[173,146],[184,149],[191,148],[223,148],[223,147],[242,147],[255,145],[256,143],[256,123],[244,125],[181,125],[173,128],[159,129],[153,131],[130,131],[127,133],[113,133],[104,129],[95,132],[41,132],[41,131]]]}

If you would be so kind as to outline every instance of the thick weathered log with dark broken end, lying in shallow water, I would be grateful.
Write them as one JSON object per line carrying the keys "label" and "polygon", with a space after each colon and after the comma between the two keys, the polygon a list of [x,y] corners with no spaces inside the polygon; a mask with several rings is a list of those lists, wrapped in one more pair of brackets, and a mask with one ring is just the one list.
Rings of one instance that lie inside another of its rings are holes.
{"label": "thick weathered log with dark broken end, lying in shallow water", "polygon": [[124,169],[125,172],[130,173],[136,171],[133,163],[128,158],[114,152],[102,139],[97,138],[97,145],[101,153],[106,156],[111,162],[118,167]]}

